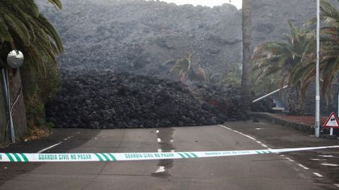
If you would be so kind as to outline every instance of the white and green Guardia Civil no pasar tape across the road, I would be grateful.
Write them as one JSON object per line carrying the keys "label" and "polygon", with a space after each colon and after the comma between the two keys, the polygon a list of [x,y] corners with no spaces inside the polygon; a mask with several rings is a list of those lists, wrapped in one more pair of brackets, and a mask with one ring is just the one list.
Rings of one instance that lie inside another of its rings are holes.
{"label": "white and green Guardia Civil no pasar tape across the road", "polygon": [[295,151],[312,151],[339,146],[319,146],[309,148],[283,148],[252,151],[198,151],[163,153],[0,153],[0,162],[113,162],[125,160],[166,160],[184,158],[212,158],[223,156],[249,156]]}

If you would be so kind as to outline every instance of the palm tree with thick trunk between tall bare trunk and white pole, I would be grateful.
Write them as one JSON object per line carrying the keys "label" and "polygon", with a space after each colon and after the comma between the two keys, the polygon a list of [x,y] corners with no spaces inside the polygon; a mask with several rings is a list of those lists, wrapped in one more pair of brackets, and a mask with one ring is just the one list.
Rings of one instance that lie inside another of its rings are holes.
{"label": "palm tree with thick trunk between tall bare trunk and white pole", "polygon": [[[251,62],[254,64],[251,68],[258,72],[257,80],[270,75],[278,75],[280,87],[290,82],[291,73],[297,65],[300,65],[304,52],[314,49],[315,34],[314,31],[308,31],[304,28],[299,29],[288,22],[290,34],[285,35],[284,42],[267,42],[257,47]],[[300,88],[302,82],[291,84],[288,89],[287,100],[291,114],[299,115],[304,113],[304,103]]]}

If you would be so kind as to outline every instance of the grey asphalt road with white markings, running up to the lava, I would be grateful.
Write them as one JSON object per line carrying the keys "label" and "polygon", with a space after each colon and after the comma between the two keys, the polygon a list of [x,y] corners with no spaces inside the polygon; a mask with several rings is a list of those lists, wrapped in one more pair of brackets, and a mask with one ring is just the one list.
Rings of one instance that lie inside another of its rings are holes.
{"label": "grey asphalt road with white markings, running up to the lava", "polygon": [[[268,129],[265,122],[232,122],[224,126],[246,131],[254,125]],[[261,137],[261,132],[265,130],[254,130],[257,134],[251,134],[251,137],[256,139],[220,125],[160,129],[58,129],[48,139],[17,144],[2,151],[36,153],[54,144],[59,145],[44,153],[239,151],[270,147],[268,139],[261,141],[265,137]],[[293,131],[290,133],[294,134]],[[269,135],[272,136],[272,133]],[[334,141],[328,142],[331,143],[335,144]],[[292,143],[284,146],[283,142],[279,144],[277,141],[273,141],[273,145],[292,147]],[[296,144],[295,147],[300,146]],[[321,179],[325,177],[315,175],[316,170],[292,159],[286,155],[271,154],[114,163],[1,163],[0,189],[338,189],[332,180],[323,182]]]}

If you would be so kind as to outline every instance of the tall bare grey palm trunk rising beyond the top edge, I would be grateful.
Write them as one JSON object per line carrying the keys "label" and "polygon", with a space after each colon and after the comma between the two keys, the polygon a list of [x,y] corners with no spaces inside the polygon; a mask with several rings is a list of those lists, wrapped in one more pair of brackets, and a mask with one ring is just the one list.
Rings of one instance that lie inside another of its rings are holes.
{"label": "tall bare grey palm trunk rising beyond the top edge", "polygon": [[251,6],[252,0],[242,1],[242,106],[249,110],[251,105],[249,84],[249,59],[251,58]]}

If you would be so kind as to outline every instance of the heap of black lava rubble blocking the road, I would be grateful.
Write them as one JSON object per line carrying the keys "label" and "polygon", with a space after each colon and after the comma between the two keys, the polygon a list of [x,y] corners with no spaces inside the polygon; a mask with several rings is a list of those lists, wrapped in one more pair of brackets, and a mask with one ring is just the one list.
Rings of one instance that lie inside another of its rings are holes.
{"label": "heap of black lava rubble blocking the road", "polygon": [[63,128],[143,128],[216,125],[247,120],[234,87],[191,85],[113,72],[64,72],[47,120]]}

